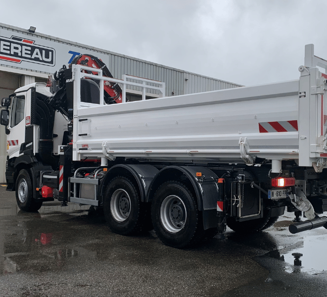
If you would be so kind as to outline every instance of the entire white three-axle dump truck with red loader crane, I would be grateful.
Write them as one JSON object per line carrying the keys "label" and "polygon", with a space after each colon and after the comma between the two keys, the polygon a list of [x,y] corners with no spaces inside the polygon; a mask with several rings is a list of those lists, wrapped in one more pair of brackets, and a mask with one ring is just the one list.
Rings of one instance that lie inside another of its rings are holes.
{"label": "entire white three-axle dump truck with red loader crane", "polygon": [[[115,233],[153,228],[178,248],[226,226],[265,230],[285,210],[291,233],[327,228],[327,61],[307,45],[298,69],[293,81],[145,99],[164,86],[76,57],[2,99],[7,191],[24,211],[91,205]],[[142,100],[128,102],[127,85]]]}

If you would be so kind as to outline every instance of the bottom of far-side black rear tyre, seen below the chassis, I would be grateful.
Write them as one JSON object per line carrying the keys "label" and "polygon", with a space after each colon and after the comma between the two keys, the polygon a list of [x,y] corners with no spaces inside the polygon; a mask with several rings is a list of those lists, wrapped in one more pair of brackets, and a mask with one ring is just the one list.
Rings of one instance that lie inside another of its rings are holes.
{"label": "bottom of far-side black rear tyre, seen below the chassis", "polygon": [[259,219],[239,222],[234,218],[227,218],[227,226],[230,227],[233,231],[239,233],[254,233],[260,232],[269,227],[273,226],[278,220],[278,216],[270,217],[270,211],[264,211],[264,216]]}

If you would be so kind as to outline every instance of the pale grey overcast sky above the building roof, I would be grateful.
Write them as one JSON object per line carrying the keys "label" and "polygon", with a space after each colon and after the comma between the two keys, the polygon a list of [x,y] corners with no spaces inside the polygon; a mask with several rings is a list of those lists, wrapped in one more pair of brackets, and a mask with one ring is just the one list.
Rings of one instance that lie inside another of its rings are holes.
{"label": "pale grey overcast sky above the building roof", "polygon": [[[327,59],[326,0],[11,0],[0,22],[241,85]],[[108,65],[110,70],[110,65]]]}

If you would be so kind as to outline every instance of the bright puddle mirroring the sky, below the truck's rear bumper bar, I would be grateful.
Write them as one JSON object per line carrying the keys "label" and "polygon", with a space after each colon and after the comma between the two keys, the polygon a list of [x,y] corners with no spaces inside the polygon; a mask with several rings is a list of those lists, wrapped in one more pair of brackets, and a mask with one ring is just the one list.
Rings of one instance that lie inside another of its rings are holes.
{"label": "bright puddle mirroring the sky, below the truck's rear bumper bar", "polygon": [[266,256],[284,261],[290,266],[286,272],[327,273],[327,236],[301,238],[297,243],[273,250]]}

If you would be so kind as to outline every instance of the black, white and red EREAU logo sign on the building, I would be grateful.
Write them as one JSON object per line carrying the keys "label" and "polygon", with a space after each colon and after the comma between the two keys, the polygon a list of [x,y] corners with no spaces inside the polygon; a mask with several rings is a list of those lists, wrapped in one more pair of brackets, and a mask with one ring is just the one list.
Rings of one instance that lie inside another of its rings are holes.
{"label": "black, white and red EREAU logo sign on the building", "polygon": [[54,66],[55,50],[40,46],[33,40],[11,36],[0,36],[0,60],[21,63],[21,61]]}

